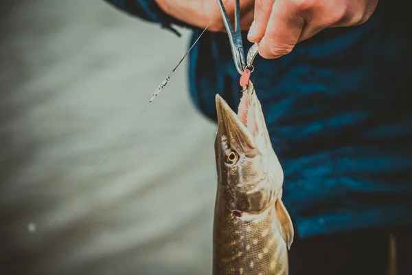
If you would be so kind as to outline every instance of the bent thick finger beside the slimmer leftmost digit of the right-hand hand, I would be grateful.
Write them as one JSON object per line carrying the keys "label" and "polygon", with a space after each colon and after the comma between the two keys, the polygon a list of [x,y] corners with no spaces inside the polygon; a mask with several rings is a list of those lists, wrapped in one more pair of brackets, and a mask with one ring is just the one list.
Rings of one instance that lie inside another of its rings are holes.
{"label": "bent thick finger beside the slimmer leftmost digit of the right-hand hand", "polygon": [[259,43],[259,54],[263,58],[278,58],[293,50],[305,25],[299,14],[299,7],[293,1],[275,1],[266,32]]}

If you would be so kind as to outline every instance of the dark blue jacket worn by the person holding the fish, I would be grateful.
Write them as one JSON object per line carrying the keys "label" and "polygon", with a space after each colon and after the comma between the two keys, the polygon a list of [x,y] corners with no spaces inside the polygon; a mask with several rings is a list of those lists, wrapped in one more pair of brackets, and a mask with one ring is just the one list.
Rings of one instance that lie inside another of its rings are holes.
{"label": "dark blue jacket worn by the person holding the fish", "polygon": [[[106,1],[173,32],[185,25],[152,0]],[[410,22],[402,2],[380,0],[363,25],[323,30],[282,58],[255,59],[252,80],[299,236],[412,223]],[[193,42],[201,30],[192,30]],[[192,100],[208,118],[216,120],[216,93],[238,107],[227,34],[205,32],[189,74]]]}

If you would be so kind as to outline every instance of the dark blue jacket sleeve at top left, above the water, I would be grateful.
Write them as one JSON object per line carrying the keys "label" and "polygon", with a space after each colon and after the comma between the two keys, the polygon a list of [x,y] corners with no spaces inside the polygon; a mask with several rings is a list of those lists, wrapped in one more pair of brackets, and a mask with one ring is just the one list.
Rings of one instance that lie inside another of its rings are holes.
{"label": "dark blue jacket sleeve at top left, above the water", "polygon": [[174,17],[166,14],[159,8],[159,5],[154,0],[103,0],[115,6],[119,10],[127,12],[128,14],[139,17],[145,21],[160,23],[162,28],[174,32],[177,36],[181,34],[172,27],[172,25],[179,25],[181,27],[190,28],[194,30],[192,25],[183,23]]}

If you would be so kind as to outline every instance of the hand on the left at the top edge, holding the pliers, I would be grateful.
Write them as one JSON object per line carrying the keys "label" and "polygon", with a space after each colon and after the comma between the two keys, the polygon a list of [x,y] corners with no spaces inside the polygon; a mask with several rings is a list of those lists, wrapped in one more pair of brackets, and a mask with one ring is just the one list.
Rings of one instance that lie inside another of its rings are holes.
{"label": "hand on the left at the top edge, holding the pliers", "polygon": [[[169,14],[180,21],[198,28],[206,28],[207,24],[219,10],[218,1],[216,0],[155,0],[157,5],[165,13]],[[222,2],[225,5],[227,16],[234,22],[235,18],[235,1],[226,0]],[[254,0],[240,0],[240,28],[249,30],[253,22]],[[207,30],[211,32],[226,32],[222,15],[218,14],[214,21],[211,22]]]}

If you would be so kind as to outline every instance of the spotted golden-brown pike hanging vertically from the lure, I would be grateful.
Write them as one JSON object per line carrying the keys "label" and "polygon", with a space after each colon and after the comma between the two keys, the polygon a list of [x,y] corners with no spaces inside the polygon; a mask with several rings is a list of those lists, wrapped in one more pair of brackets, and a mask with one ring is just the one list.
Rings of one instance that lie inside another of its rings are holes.
{"label": "spotted golden-brown pike hanging vertically from the lure", "polygon": [[251,80],[242,93],[238,113],[216,94],[213,275],[285,275],[294,230],[284,172]]}

